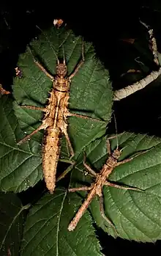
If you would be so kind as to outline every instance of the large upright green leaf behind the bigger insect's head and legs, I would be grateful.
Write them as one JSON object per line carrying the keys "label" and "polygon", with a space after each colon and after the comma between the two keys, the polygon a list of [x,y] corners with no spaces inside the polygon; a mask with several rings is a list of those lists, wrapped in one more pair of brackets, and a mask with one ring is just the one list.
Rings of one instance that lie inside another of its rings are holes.
{"label": "large upright green leaf behind the bigger insect's head and legs", "polygon": [[[75,36],[67,28],[56,29],[53,26],[42,32],[37,40],[32,40],[30,45],[33,54],[53,76],[56,75],[57,57],[62,59],[63,52],[68,75],[75,70],[82,58],[82,38]],[[75,159],[86,145],[105,134],[106,126],[111,120],[113,103],[108,70],[105,70],[100,60],[97,59],[91,43],[84,43],[84,51],[85,63],[72,78],[69,108],[77,114],[102,121],[84,120],[78,117],[68,118],[70,124],[68,132],[75,151]],[[31,109],[21,109],[19,105],[45,106],[48,92],[53,84],[34,63],[29,48],[26,48],[25,54],[20,55],[18,67],[22,70],[23,76],[14,80],[13,94],[16,100],[14,109],[21,128],[29,134],[40,126],[42,113]],[[42,131],[32,136],[31,141],[31,145],[34,145],[34,142],[42,142]],[[66,152],[61,150],[61,156],[68,157],[67,149]]]}

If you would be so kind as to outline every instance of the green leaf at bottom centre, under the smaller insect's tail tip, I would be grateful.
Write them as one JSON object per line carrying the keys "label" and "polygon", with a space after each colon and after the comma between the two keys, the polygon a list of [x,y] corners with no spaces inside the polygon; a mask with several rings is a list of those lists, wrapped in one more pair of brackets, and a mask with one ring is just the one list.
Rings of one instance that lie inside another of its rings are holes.
{"label": "green leaf at bottom centre, under the smaller insect's tail tip", "polygon": [[53,195],[45,194],[26,219],[21,256],[102,255],[88,213],[81,219],[77,231],[67,230],[72,213],[80,204],[78,195],[67,194],[62,189],[56,189]]}

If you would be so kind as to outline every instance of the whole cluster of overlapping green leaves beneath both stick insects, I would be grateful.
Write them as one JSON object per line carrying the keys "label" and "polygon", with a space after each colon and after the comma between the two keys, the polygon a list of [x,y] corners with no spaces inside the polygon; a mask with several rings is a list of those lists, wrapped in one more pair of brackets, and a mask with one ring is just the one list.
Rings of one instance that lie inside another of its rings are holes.
{"label": "whole cluster of overlapping green leaves beneath both stick insects", "polygon": [[[85,63],[72,78],[69,109],[78,114],[100,119],[84,120],[68,118],[68,133],[73,145],[75,167],[70,175],[56,183],[54,194],[42,191],[32,194],[31,205],[23,205],[20,193],[32,191],[43,179],[42,137],[38,132],[28,142],[17,142],[41,124],[42,112],[22,109],[20,105],[45,106],[53,84],[35,65],[33,57],[52,75],[56,74],[57,58],[67,63],[68,75],[81,59],[82,38],[66,27],[54,27],[43,31],[30,48],[20,54],[18,68],[22,76],[12,85],[12,96],[0,99],[0,190],[1,190],[1,255],[102,255],[97,228],[115,237],[113,229],[100,213],[97,197],[91,202],[75,231],[67,230],[68,224],[86,198],[86,193],[69,193],[68,187],[90,186],[94,180],[86,175],[83,152],[88,164],[100,172],[108,158],[108,124],[113,108],[113,89],[108,70],[97,58],[94,46],[84,42]],[[34,54],[34,56],[33,56]],[[123,148],[124,160],[143,150],[145,154],[127,164],[116,167],[109,181],[132,186],[142,191],[130,191],[112,187],[103,188],[105,215],[113,222],[119,236],[128,240],[154,242],[161,237],[160,180],[161,139],[146,134],[124,132],[118,139],[111,139],[111,150]],[[67,143],[62,138],[61,162],[64,167],[70,161]],[[27,210],[27,211],[26,211]],[[5,224],[4,224],[5,223]],[[23,227],[24,224],[24,227]]]}

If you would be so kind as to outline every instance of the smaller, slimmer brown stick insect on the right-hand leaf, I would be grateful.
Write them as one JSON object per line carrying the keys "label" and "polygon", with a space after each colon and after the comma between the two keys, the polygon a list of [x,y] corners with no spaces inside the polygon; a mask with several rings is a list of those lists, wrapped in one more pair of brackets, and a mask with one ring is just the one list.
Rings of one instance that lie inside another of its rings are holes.
{"label": "smaller, slimmer brown stick insect on the right-hand leaf", "polygon": [[[115,137],[115,136],[113,136],[113,137]],[[117,184],[114,184],[114,183],[111,183],[111,182],[108,181],[108,177],[109,177],[109,175],[111,175],[111,172],[113,172],[113,169],[115,167],[118,167],[121,164],[125,164],[129,161],[132,161],[133,158],[149,151],[149,150],[146,150],[146,151],[143,151],[141,153],[138,153],[137,155],[135,155],[131,158],[124,159],[123,161],[118,161],[119,157],[121,156],[121,151],[123,149],[119,150],[118,143],[117,143],[116,150],[114,150],[113,153],[111,153],[110,139],[112,139],[113,137],[108,138],[108,140],[107,140],[107,150],[108,150],[109,157],[108,157],[107,161],[105,162],[105,164],[103,165],[100,173],[94,172],[94,170],[91,169],[91,167],[89,167],[88,164],[86,164],[86,154],[84,155],[83,165],[84,165],[84,167],[86,167],[86,169],[91,174],[91,176],[93,176],[95,178],[95,181],[89,187],[88,186],[83,186],[81,188],[69,189],[70,192],[89,191],[89,194],[86,197],[86,200],[81,205],[81,208],[79,208],[79,210],[76,213],[74,219],[72,219],[72,222],[70,222],[70,224],[68,226],[69,231],[75,230],[75,227],[77,226],[79,220],[81,219],[81,217],[85,213],[86,209],[89,207],[93,198],[97,195],[100,198],[100,212],[101,212],[101,215],[102,215],[103,219],[105,219],[105,221],[108,222],[108,224],[111,225],[111,227],[113,228],[115,233],[118,234],[114,224],[110,221],[110,219],[108,219],[105,216],[104,207],[103,207],[102,187],[103,186],[112,186],[116,189],[143,191],[141,189],[137,189],[137,188],[134,188],[134,187],[119,186]]]}

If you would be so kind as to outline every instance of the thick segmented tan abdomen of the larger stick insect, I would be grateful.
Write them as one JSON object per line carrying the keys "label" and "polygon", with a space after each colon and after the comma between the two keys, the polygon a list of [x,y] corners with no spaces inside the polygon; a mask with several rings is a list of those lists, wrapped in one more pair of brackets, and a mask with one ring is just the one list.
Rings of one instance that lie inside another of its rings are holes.
{"label": "thick segmented tan abdomen of the larger stick insect", "polygon": [[47,189],[53,194],[56,186],[56,168],[60,155],[60,128],[49,127],[45,131],[45,141],[42,153],[42,169]]}

